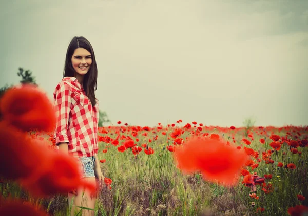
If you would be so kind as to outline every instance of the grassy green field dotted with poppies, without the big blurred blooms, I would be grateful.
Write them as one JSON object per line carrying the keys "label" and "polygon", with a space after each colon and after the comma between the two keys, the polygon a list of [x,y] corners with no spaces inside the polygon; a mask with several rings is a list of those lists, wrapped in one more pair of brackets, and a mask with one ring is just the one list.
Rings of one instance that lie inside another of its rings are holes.
{"label": "grassy green field dotted with poppies, without the big blurred blooms", "polygon": [[[288,215],[288,210],[290,213],[296,210],[290,207],[307,206],[307,199],[298,197],[308,196],[307,127],[230,129],[199,126],[199,123],[196,127],[192,123],[191,127],[187,125],[100,127],[98,156],[105,159],[101,162],[102,172],[112,183],[111,187],[106,185],[101,189],[95,215]],[[177,138],[170,136],[176,129],[183,132],[177,137],[183,139],[179,144],[174,141]],[[278,136],[275,138],[273,134]],[[52,145],[47,134],[31,135],[44,137]],[[241,172],[237,185],[224,187],[203,179],[198,170],[183,174],[177,168],[174,152],[168,146],[177,150],[186,144],[186,138],[194,136],[216,137],[241,149],[252,149],[245,150],[251,161],[243,166],[247,171]],[[127,137],[141,152],[133,154],[132,148],[120,151]],[[264,139],[264,144],[260,139]],[[273,145],[275,142],[279,149]],[[150,148],[153,154],[145,154]],[[243,175],[254,173],[266,177],[263,184],[256,185],[256,191],[242,183]],[[4,178],[1,182],[0,195],[4,199],[20,198],[51,215],[68,215],[65,195],[35,198],[14,181]]]}

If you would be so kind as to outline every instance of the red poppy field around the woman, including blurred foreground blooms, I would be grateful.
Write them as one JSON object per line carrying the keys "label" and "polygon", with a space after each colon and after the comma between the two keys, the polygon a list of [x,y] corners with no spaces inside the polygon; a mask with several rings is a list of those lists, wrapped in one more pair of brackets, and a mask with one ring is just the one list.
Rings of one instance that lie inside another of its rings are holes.
{"label": "red poppy field around the woman, including blurred foreground blooms", "polygon": [[98,128],[105,186],[95,190],[74,160],[57,153],[52,103],[42,92],[9,90],[0,108],[0,215],[69,215],[67,192],[76,186],[97,196],[95,215],[308,211],[307,126],[118,121]]}

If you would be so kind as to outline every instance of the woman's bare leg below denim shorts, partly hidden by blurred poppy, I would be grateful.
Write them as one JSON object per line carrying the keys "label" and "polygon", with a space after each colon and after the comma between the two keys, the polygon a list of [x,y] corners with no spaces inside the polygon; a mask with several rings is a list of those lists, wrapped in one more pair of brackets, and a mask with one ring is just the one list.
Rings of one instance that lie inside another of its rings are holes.
{"label": "woman's bare leg below denim shorts, partly hidden by blurred poppy", "polygon": [[[96,184],[95,177],[88,177],[88,178],[83,178],[83,181],[87,181],[90,184]],[[74,198],[74,201],[72,203],[72,209],[70,212],[70,215],[73,216],[74,212],[79,212],[81,208],[74,207],[74,206],[82,206],[86,208],[95,208],[95,201],[96,198],[95,196],[91,196],[91,193],[88,189],[85,189],[80,187],[77,188],[77,195],[73,195],[71,193],[68,194],[68,204],[69,207],[71,205],[71,201]],[[83,216],[94,216],[94,210],[87,210],[87,209],[82,209],[82,215]]]}

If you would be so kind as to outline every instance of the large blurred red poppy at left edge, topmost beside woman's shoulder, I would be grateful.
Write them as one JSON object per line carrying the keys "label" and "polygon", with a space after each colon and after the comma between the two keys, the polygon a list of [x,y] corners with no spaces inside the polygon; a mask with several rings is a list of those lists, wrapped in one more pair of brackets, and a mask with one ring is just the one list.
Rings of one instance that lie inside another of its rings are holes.
{"label": "large blurred red poppy at left edge, topmost beside woman's shoulder", "polygon": [[0,101],[0,112],[4,120],[22,131],[51,131],[56,120],[47,95],[31,84],[7,90]]}

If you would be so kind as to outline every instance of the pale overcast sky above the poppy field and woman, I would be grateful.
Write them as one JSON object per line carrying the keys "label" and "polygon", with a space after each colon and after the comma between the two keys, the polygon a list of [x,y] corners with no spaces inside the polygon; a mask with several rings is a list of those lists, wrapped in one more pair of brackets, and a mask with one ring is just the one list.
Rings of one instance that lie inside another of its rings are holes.
{"label": "pale overcast sky above the poppy field and woman", "polygon": [[30,69],[50,98],[73,36],[92,44],[110,120],[308,124],[308,1],[2,1],[0,86]]}

